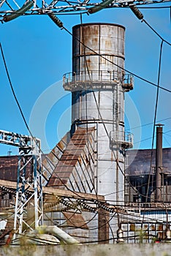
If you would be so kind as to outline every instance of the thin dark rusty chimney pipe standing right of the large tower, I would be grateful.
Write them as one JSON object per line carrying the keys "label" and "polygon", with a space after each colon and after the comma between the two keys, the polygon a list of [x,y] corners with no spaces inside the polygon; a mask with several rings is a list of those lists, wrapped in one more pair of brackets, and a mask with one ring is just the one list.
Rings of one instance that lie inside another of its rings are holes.
{"label": "thin dark rusty chimney pipe standing right of the large tower", "polygon": [[157,124],[157,127],[156,127],[156,202],[161,202],[162,132],[163,132],[163,125]]}

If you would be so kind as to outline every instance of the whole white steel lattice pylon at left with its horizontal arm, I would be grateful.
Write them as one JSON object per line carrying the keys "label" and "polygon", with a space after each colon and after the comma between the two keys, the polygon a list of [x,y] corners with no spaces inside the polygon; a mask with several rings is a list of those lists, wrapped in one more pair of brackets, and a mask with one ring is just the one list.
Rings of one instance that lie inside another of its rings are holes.
{"label": "whole white steel lattice pylon at left with its horizontal arm", "polygon": [[18,177],[14,231],[24,233],[43,225],[40,140],[0,130],[0,143],[18,146]]}

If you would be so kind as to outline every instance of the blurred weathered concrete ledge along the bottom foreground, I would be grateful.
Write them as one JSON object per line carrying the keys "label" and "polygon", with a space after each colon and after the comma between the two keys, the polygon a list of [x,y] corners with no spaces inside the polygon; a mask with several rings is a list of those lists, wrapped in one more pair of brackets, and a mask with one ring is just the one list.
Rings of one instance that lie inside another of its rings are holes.
{"label": "blurred weathered concrete ledge along the bottom foreground", "polygon": [[16,246],[0,249],[1,256],[171,256],[171,244],[112,244]]}

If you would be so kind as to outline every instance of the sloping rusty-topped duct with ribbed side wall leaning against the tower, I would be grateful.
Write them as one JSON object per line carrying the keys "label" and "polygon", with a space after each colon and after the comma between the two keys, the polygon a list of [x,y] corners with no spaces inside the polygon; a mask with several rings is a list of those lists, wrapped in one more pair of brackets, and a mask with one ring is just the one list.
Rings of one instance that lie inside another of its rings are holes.
{"label": "sloping rusty-topped duct with ribbed side wall leaning against the tower", "polygon": [[91,191],[93,178],[88,170],[88,165],[92,160],[88,159],[87,156],[93,153],[93,148],[88,146],[88,143],[93,142],[92,132],[94,132],[94,128],[78,128],[75,131],[58,165],[56,165],[56,169],[53,171],[47,184],[48,187],[65,188],[65,186],[72,186],[72,189],[79,192]]}

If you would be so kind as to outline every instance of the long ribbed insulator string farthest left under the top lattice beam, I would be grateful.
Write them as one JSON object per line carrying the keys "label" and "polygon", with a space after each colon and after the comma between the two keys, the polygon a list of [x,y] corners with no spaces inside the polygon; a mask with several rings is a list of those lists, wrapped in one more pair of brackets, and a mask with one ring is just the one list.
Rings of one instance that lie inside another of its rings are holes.
{"label": "long ribbed insulator string farthest left under the top lattice beam", "polygon": [[19,10],[12,12],[9,15],[4,16],[3,20],[4,22],[14,20],[15,18],[18,18],[20,15],[25,14],[26,11],[30,10],[31,7],[33,7],[34,2],[33,1],[28,1],[25,4],[23,4],[23,7],[21,7]]}

